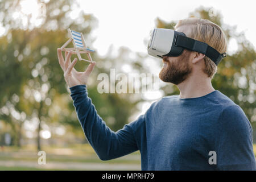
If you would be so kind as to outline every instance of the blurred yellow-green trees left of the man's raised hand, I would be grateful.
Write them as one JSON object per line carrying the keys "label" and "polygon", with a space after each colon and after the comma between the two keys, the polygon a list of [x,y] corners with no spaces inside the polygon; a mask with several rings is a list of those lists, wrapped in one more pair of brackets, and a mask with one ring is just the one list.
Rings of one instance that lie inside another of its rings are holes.
{"label": "blurred yellow-green trees left of the man's raised hand", "polygon": [[[38,118],[37,143],[40,150],[42,122],[51,122],[53,114],[49,109],[52,109],[52,105],[58,105],[54,103],[55,98],[67,93],[63,71],[57,61],[56,48],[66,41],[68,27],[87,35],[96,20],[82,11],[79,18],[72,19],[75,17],[69,15],[71,9],[74,10],[78,6],[75,1],[49,1],[44,3],[46,14],[36,17],[36,22],[33,22],[35,17],[32,13],[20,13],[21,3],[22,1],[1,1],[0,4],[1,26],[6,29],[6,35],[1,38],[1,106],[5,106],[5,110],[13,109],[14,114],[11,114],[9,122],[16,122],[16,125],[12,126],[18,146],[24,119]],[[19,16],[13,19],[15,14]],[[80,22],[86,23],[81,26]],[[15,100],[10,100],[11,97]],[[67,109],[65,111],[71,112]],[[21,118],[20,113],[26,113],[23,114],[25,117]],[[55,121],[61,119],[61,112],[57,111],[57,114],[60,114],[60,117]],[[75,122],[75,118],[69,117],[69,120]],[[18,130],[15,130],[17,126]]]}

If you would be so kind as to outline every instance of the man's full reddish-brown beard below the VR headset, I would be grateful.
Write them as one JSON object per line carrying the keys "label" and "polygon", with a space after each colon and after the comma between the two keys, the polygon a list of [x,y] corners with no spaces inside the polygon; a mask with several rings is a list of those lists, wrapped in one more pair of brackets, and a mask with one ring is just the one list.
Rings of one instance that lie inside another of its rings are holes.
{"label": "man's full reddish-brown beard below the VR headset", "polygon": [[192,72],[192,67],[189,65],[189,56],[191,52],[184,50],[178,57],[172,57],[172,60],[168,60],[168,57],[164,57],[163,61],[166,63],[159,73],[159,78],[164,82],[170,82],[178,85],[187,79]]}

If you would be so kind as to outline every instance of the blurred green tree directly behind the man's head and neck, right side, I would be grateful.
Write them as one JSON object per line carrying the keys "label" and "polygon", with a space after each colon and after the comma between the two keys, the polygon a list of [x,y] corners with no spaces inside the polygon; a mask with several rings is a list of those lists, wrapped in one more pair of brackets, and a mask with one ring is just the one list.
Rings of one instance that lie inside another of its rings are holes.
{"label": "blurred green tree directly behind the man's head and neck, right side", "polygon": [[[253,45],[246,40],[243,32],[237,32],[236,27],[231,27],[222,22],[221,14],[210,14],[210,8],[199,7],[190,17],[209,19],[218,24],[225,32],[226,38],[230,45],[230,40],[235,40],[238,45],[236,52],[228,50],[228,56],[218,65],[218,71],[213,77],[212,85],[215,89],[220,90],[237,105],[240,105],[245,111],[252,125],[255,127],[256,122],[256,102],[255,102],[255,77],[256,77],[256,52]],[[174,28],[177,22],[164,22],[156,19],[156,26],[159,28]],[[164,86],[166,94],[179,94],[176,86],[170,92],[170,86]],[[254,134],[254,137],[256,135]]]}

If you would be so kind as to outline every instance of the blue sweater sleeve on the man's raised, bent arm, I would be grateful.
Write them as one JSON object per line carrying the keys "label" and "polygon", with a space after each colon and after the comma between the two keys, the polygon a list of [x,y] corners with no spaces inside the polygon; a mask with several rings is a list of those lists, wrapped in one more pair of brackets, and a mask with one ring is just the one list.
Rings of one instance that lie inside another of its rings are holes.
{"label": "blue sweater sleeve on the man's raised, bent arm", "polygon": [[[119,158],[138,150],[134,125],[128,124],[117,132],[112,131],[97,114],[88,97],[86,85],[76,85],[69,89],[82,130],[101,160]],[[143,117],[138,118],[140,119]]]}

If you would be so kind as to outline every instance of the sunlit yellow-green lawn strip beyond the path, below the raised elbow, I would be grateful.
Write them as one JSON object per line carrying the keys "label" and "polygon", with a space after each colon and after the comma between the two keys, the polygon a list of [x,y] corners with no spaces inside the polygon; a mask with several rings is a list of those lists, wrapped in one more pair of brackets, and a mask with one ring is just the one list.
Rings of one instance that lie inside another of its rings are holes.
{"label": "sunlit yellow-green lawn strip beyond the path, below the raised elbow", "polygon": [[[43,146],[46,151],[47,162],[78,162],[78,163],[125,163],[141,164],[139,151],[133,152],[122,158],[102,161],[98,158],[93,148],[89,144],[76,144],[68,147]],[[4,152],[0,152],[0,161],[37,161],[39,156],[34,146],[5,147]]]}

